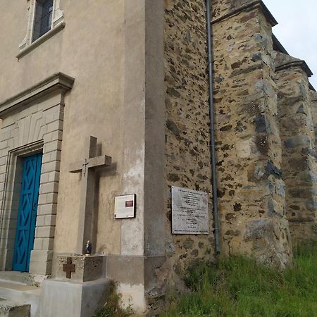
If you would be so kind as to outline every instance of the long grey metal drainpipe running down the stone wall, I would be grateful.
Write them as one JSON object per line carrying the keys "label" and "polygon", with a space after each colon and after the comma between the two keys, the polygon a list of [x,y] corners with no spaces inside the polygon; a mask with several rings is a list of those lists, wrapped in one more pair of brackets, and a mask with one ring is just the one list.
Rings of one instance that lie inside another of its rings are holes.
{"label": "long grey metal drainpipe running down the stone wall", "polygon": [[213,221],[215,226],[216,253],[220,254],[219,237],[219,215],[217,194],[217,170],[216,170],[216,148],[215,148],[215,108],[213,104],[213,47],[211,28],[211,2],[206,0],[207,36],[208,36],[208,68],[209,68],[209,116],[210,116],[210,152],[213,186]]}

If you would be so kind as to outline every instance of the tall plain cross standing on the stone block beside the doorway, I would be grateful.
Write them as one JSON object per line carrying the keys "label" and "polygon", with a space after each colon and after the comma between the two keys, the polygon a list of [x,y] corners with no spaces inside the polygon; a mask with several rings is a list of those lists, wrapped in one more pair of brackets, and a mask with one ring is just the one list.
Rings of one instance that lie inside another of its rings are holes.
{"label": "tall plain cross standing on the stone block beside the doorway", "polygon": [[78,234],[76,253],[85,253],[87,240],[92,240],[92,213],[94,209],[95,170],[111,166],[110,156],[96,156],[97,138],[89,137],[86,144],[86,158],[83,161],[70,164],[70,173],[82,173],[80,186],[80,213],[78,219]]}

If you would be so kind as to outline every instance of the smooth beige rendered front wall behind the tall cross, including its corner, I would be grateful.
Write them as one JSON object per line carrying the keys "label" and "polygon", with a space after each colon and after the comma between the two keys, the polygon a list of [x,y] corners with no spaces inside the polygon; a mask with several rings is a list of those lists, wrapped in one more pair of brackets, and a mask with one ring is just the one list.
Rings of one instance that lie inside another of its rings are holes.
{"label": "smooth beige rendered front wall behind the tall cross, including its corner", "polygon": [[[87,4],[61,0],[66,27],[17,61],[27,1],[1,1],[0,25],[11,28],[0,35],[6,48],[1,49],[0,100],[52,73],[75,78],[65,98],[54,254],[75,249],[80,175],[68,173],[68,167],[84,159],[84,141],[93,135],[98,154],[113,158],[97,180],[93,251],[110,254],[108,276],[119,282],[124,304],[142,311],[165,251],[163,0]],[[137,217],[113,220],[114,197],[132,193]]]}

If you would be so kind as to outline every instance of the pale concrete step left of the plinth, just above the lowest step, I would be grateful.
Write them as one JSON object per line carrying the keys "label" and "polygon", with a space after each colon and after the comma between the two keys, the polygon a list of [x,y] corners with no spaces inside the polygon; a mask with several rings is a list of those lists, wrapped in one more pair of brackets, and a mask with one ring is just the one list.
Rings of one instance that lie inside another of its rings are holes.
{"label": "pale concrete step left of the plinth, just above the lowest step", "polygon": [[31,317],[39,316],[40,295],[41,287],[23,285],[19,282],[0,281],[0,298],[18,303],[18,306],[30,305]]}

